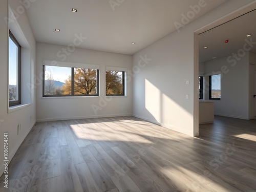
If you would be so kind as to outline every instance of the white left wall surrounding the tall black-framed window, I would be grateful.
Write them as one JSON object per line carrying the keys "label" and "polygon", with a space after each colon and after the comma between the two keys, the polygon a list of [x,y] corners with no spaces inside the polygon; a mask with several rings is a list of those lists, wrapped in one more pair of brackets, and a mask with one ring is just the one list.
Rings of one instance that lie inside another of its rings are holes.
{"label": "white left wall surrounding the tall black-framed window", "polygon": [[[17,10],[21,6],[18,1],[10,0],[9,9]],[[8,1],[1,1],[0,6],[0,143],[3,146],[4,133],[8,133],[9,160],[12,159],[19,145],[27,136],[35,123],[35,91],[28,84],[34,83],[35,74],[35,40],[25,12],[19,11],[16,20],[10,23],[12,33],[22,46],[22,107],[9,110],[8,107],[8,25],[4,18],[8,18]],[[17,15],[16,15],[17,16]],[[10,17],[10,15],[9,15]],[[25,70],[27,68],[27,70]],[[29,98],[29,99],[28,99]],[[27,105],[24,105],[27,104]],[[30,117],[31,116],[31,117]],[[17,135],[17,125],[21,130]],[[3,147],[0,148],[0,159],[4,159]],[[0,165],[0,175],[4,171],[3,163]]]}

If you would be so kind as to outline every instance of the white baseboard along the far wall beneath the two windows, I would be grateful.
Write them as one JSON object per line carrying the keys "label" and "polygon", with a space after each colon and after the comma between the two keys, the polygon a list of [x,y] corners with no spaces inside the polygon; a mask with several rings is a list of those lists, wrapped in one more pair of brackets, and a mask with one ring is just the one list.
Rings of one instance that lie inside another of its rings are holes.
{"label": "white baseboard along the far wall beneath the two windows", "polygon": [[74,120],[74,119],[91,119],[91,118],[103,118],[103,117],[122,117],[122,116],[133,116],[132,114],[112,114],[112,115],[92,115],[92,116],[76,116],[76,117],[58,117],[48,119],[37,119],[36,122],[45,121],[63,121],[63,120]]}

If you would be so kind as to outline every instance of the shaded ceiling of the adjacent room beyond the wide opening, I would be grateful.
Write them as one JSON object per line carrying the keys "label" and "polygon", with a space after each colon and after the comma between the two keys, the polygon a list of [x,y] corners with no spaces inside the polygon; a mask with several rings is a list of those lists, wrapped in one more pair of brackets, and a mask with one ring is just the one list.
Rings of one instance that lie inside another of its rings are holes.
{"label": "shaded ceiling of the adjacent room beyond the wide opening", "polygon": [[[229,55],[239,54],[240,49],[244,49],[246,44],[245,39],[256,42],[256,27],[254,25],[256,19],[256,10],[242,15],[236,19],[231,20],[219,27],[211,29],[199,35],[199,61],[205,62],[212,60],[212,57],[222,58]],[[251,37],[246,37],[251,34]],[[225,44],[225,40],[229,40]],[[254,39],[254,40],[253,40]],[[207,49],[203,49],[208,47]],[[246,49],[250,48],[249,45]],[[254,45],[251,52],[256,53],[256,45]]]}

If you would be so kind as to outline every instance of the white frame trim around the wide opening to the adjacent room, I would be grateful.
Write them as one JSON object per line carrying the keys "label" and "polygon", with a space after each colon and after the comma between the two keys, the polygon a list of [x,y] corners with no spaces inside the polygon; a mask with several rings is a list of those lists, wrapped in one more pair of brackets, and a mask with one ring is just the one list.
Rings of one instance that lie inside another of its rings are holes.
{"label": "white frame trim around the wide opening to the adjacent room", "polygon": [[256,9],[256,1],[253,1],[231,13],[215,20],[214,22],[203,26],[202,28],[194,32],[194,136],[199,136],[199,101],[198,101],[198,76],[199,76],[199,40],[198,35],[208,31],[212,28],[215,28],[219,25],[222,25],[230,20],[237,18],[243,14],[246,14],[250,11]]}

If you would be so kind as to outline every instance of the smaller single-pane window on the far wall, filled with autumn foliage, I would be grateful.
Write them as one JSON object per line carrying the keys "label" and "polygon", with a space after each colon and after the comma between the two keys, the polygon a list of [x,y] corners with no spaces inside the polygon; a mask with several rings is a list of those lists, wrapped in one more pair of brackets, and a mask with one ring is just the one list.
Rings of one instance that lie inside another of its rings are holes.
{"label": "smaller single-pane window on the far wall, filled with autumn foliage", "polygon": [[124,95],[124,71],[106,71],[106,95]]}

